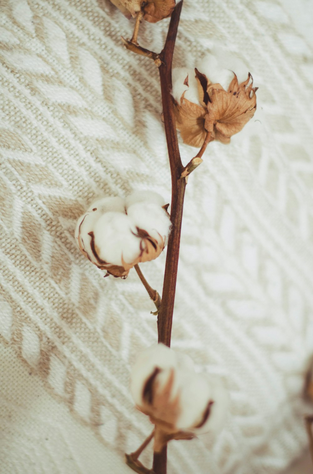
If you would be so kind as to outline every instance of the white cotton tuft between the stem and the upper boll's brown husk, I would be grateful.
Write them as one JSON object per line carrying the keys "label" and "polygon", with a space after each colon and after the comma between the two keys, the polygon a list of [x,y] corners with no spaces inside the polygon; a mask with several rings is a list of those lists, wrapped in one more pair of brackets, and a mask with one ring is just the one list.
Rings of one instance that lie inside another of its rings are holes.
{"label": "white cotton tuft between the stem and the upper boll's brown husk", "polygon": [[[188,76],[188,86],[184,84]],[[196,74],[194,68],[191,67],[177,67],[173,69],[172,73],[172,95],[176,102],[180,103],[184,91],[184,98],[190,100],[194,104],[199,103],[198,86],[196,81]]]}

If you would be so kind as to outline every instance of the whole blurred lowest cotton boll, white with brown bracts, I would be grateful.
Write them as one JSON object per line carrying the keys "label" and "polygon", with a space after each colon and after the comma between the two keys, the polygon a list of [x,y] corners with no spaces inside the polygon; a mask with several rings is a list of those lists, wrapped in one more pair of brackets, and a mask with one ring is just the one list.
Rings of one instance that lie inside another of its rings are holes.
{"label": "whole blurred lowest cotton boll, white with brown bracts", "polygon": [[137,408],[155,424],[156,452],[169,439],[217,433],[227,410],[226,390],[207,374],[196,374],[189,358],[162,344],[143,351],[131,372]]}

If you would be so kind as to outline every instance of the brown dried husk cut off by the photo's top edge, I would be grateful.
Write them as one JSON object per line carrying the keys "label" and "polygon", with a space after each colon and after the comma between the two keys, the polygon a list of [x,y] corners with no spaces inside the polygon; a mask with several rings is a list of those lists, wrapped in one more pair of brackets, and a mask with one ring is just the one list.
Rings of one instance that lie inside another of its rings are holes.
{"label": "brown dried husk cut off by the photo's top edge", "polygon": [[111,2],[127,18],[135,18],[142,10],[143,18],[150,23],[169,17],[175,7],[175,0],[111,0]]}

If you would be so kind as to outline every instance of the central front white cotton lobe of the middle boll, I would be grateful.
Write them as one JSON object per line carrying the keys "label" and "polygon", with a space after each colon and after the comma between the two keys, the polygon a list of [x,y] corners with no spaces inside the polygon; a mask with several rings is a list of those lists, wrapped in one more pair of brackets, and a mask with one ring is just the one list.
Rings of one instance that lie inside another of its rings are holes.
{"label": "central front white cotton lobe of the middle boll", "polygon": [[140,239],[132,232],[136,233],[136,228],[125,214],[103,214],[94,226],[96,251],[101,260],[114,265],[122,265],[122,259],[132,263],[140,253]]}

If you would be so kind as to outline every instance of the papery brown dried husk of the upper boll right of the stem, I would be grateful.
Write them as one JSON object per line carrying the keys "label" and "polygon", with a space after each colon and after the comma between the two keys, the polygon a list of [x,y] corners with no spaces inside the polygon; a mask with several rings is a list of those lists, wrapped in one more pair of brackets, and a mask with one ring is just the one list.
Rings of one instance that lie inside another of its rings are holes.
{"label": "papery brown dried husk of the upper boll right of the stem", "polygon": [[[237,76],[227,91],[220,84],[212,84],[205,74],[195,69],[198,84],[199,104],[184,98],[180,104],[175,101],[176,128],[180,130],[183,142],[199,147],[209,132],[209,141],[229,143],[230,137],[240,132],[252,118],[256,109],[257,87],[249,73],[246,81],[238,84]],[[188,76],[186,78],[188,85]]]}

